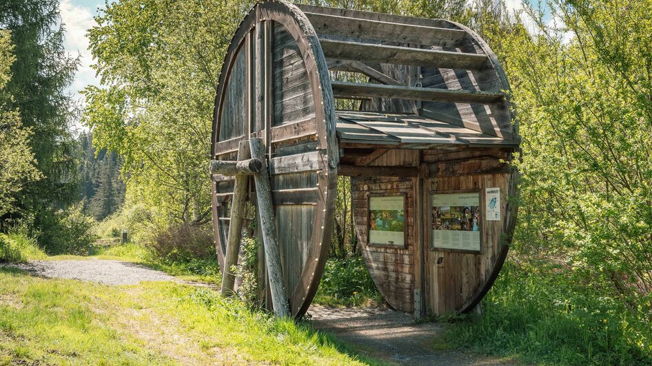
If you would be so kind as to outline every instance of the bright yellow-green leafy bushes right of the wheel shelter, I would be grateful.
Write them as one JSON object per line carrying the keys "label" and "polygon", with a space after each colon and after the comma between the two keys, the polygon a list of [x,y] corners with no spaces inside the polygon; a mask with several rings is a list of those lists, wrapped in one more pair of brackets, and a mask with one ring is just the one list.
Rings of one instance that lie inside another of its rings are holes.
{"label": "bright yellow-green leafy bushes right of the wheel shelter", "polygon": [[500,45],[523,137],[516,249],[652,319],[652,2],[626,4],[557,1],[561,25],[530,11],[538,35]]}

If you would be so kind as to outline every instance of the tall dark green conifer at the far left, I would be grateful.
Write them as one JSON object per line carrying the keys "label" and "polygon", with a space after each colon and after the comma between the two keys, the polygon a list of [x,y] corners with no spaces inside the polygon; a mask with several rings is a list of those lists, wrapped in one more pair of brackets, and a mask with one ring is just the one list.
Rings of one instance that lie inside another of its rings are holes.
{"label": "tall dark green conifer at the far left", "polygon": [[[4,1],[0,28],[11,31],[16,62],[6,92],[13,96],[10,109],[18,111],[32,131],[28,140],[43,179],[32,180],[15,197],[19,215],[41,232],[41,242],[54,238],[47,225],[57,224],[54,213],[77,198],[74,140],[68,129],[70,98],[64,89],[72,82],[78,61],[63,49],[59,1]],[[7,217],[5,217],[7,218]]]}

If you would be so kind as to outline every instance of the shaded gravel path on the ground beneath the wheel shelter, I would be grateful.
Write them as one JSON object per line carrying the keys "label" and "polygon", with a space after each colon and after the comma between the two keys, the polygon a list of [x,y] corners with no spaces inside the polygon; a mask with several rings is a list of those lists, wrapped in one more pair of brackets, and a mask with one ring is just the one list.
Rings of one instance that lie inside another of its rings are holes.
{"label": "shaded gravel path on the ground beneath the wheel shelter", "polygon": [[378,308],[310,305],[312,325],[396,365],[504,365],[505,360],[435,349],[443,327],[415,323],[409,314]]}

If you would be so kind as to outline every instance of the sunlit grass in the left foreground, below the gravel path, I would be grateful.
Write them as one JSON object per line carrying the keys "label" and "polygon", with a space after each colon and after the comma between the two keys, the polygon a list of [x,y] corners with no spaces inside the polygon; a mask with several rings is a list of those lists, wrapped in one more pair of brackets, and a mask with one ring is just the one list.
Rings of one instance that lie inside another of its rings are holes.
{"label": "sunlit grass in the left foreground, below the gravel path", "polygon": [[0,268],[0,365],[377,363],[292,321],[178,283],[103,286]]}

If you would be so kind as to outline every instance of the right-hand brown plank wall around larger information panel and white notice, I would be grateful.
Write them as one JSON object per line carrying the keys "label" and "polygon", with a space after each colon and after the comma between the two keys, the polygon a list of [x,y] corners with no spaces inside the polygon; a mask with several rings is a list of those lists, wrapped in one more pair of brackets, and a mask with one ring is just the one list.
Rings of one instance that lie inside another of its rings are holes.
{"label": "right-hand brown plank wall around larger information panel and white notice", "polygon": [[[468,160],[456,160],[456,159]],[[499,149],[471,150],[445,153],[442,151],[425,151],[424,164],[469,164],[480,158],[509,159],[509,152]],[[454,169],[456,170],[456,169]],[[457,169],[459,170],[459,169]],[[433,169],[431,177],[425,180],[422,200],[425,202],[425,300],[427,308],[434,314],[459,311],[478,295],[496,267],[498,254],[505,237],[506,218],[508,215],[508,195],[513,194],[513,173],[487,173],[472,175],[450,175],[446,171]],[[487,221],[484,216],[485,188],[500,187],[500,221]],[[479,191],[482,209],[481,245],[482,252],[465,253],[436,250],[430,248],[431,212],[430,191]],[[502,264],[502,263],[500,263]]]}

